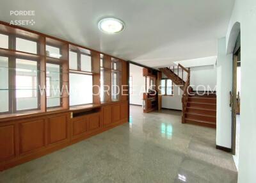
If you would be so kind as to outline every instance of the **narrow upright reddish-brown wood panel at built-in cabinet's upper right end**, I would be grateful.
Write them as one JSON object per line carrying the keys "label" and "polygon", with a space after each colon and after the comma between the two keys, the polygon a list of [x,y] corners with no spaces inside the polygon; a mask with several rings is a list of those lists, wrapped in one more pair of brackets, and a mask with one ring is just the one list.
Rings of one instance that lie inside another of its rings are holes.
{"label": "narrow upright reddish-brown wood panel at built-in cabinet's upper right end", "polygon": [[122,86],[121,86],[121,100],[127,100],[128,99],[128,79],[129,79],[129,72],[128,72],[128,63],[127,61],[122,60]]}

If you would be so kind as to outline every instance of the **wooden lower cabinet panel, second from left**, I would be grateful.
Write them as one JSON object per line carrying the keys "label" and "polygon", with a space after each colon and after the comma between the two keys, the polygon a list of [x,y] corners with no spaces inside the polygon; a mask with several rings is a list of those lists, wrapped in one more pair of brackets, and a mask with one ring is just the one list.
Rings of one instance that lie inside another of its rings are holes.
{"label": "wooden lower cabinet panel, second from left", "polygon": [[21,154],[45,146],[45,120],[20,123],[19,133]]}

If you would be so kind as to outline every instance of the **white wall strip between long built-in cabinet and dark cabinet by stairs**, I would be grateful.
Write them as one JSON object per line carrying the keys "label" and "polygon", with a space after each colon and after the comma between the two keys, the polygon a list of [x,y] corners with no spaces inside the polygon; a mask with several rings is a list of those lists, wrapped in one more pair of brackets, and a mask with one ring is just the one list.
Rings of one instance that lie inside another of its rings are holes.
{"label": "white wall strip between long built-in cabinet and dark cabinet by stairs", "polygon": [[132,76],[132,94],[130,95],[130,104],[142,105],[143,92],[145,91],[143,67],[130,64],[130,76]]}

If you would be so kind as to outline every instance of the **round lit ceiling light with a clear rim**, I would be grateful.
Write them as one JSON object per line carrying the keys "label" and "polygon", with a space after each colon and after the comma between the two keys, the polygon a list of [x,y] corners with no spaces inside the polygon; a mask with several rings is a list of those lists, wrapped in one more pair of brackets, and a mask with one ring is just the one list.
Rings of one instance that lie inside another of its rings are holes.
{"label": "round lit ceiling light with a clear rim", "polygon": [[115,18],[105,18],[98,23],[100,31],[108,34],[117,34],[124,30],[124,22]]}

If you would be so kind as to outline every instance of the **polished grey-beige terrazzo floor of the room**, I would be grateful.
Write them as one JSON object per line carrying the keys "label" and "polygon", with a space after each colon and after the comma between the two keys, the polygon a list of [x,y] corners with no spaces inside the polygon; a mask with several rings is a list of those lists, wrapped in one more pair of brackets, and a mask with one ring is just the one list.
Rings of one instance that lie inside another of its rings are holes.
{"label": "polished grey-beige terrazzo floor of the room", "polygon": [[237,182],[232,155],[216,150],[216,131],[182,124],[179,111],[129,123],[0,173],[0,182]]}

